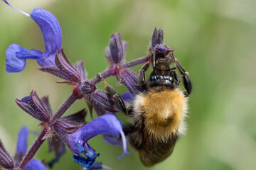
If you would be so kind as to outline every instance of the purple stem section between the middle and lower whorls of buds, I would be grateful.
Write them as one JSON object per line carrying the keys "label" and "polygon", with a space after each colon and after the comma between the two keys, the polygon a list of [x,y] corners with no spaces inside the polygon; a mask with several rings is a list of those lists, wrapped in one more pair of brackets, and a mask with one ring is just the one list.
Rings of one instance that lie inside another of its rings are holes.
{"label": "purple stem section between the middle and lower whorls of buds", "polygon": [[65,111],[68,110],[68,108],[70,108],[76,99],[78,99],[78,96],[72,93],[71,96],[63,103],[63,105],[60,106],[55,115],[53,115],[53,119],[50,121],[50,126],[56,123],[56,121],[65,113]]}

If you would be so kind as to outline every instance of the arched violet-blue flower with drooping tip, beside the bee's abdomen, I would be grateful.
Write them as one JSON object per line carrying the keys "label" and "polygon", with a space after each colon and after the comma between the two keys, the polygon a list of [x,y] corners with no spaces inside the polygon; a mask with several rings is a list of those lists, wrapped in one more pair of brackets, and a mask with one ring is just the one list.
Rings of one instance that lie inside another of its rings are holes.
{"label": "arched violet-blue flower with drooping tip, beside the bee's abdomen", "polygon": [[[122,131],[121,123],[114,115],[107,114],[90,121],[82,126],[82,128],[69,135],[71,149],[75,152],[73,157],[75,162],[82,164],[86,168],[92,166],[99,154],[97,154],[87,142],[96,135],[121,137],[123,154],[119,159],[124,157],[125,154],[129,154],[129,152],[127,152],[127,142],[124,132]],[[85,154],[85,157],[81,157],[79,154]]]}

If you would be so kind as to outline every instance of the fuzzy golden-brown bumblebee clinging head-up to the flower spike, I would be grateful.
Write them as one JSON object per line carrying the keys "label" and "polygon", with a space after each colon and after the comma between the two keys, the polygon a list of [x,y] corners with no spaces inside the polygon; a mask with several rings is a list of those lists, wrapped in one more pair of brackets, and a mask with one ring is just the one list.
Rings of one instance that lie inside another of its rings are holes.
{"label": "fuzzy golden-brown bumblebee clinging head-up to the flower spike", "polygon": [[[153,71],[146,81],[145,72],[150,65]],[[178,88],[181,81],[176,69],[182,75],[186,92]],[[131,119],[132,123],[124,126],[130,145],[139,151],[145,166],[153,166],[169,157],[178,137],[186,131],[184,118],[192,84],[188,72],[174,57],[174,50],[163,44],[149,49],[149,62],[139,70],[138,84],[142,92],[134,96],[129,106],[110,85],[105,84],[105,89]]]}

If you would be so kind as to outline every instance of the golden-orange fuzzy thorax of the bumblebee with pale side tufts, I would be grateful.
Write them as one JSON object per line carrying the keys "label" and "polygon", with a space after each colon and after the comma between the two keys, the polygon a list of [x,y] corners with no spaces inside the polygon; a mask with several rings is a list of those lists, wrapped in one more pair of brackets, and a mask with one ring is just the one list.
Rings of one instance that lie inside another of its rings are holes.
{"label": "golden-orange fuzzy thorax of the bumblebee with pale side tufts", "polygon": [[144,132],[159,141],[169,140],[173,135],[186,131],[184,118],[187,100],[179,89],[149,91],[134,98],[134,123],[142,125]]}

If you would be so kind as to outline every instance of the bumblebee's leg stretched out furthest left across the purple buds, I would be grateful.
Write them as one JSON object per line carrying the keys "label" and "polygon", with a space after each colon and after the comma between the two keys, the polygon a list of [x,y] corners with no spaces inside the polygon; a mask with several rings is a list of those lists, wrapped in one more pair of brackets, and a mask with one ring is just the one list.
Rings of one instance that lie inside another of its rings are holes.
{"label": "bumblebee's leg stretched out furthest left across the purple buds", "polygon": [[107,93],[110,94],[114,98],[114,100],[116,101],[119,110],[122,111],[125,114],[128,114],[128,111],[127,111],[127,108],[124,104],[122,96],[117,94],[117,92],[114,91],[114,88],[112,86],[110,86],[110,84],[107,84],[105,79],[103,79],[100,74],[97,74],[97,76],[100,77],[101,81],[105,85],[105,90],[107,91]]}

